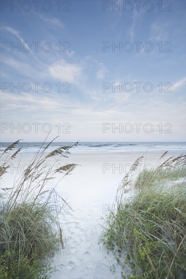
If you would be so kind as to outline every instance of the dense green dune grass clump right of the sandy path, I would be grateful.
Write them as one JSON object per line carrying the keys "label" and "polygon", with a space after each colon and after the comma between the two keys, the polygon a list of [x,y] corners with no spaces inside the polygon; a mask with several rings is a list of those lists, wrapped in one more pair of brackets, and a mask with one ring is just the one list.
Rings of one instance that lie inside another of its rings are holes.
{"label": "dense green dune grass clump right of the sandy path", "polygon": [[[185,156],[159,161],[133,180],[141,160],[119,185],[117,211],[107,216],[100,241],[114,252],[123,278],[186,278]],[[129,189],[134,194],[125,198]]]}

